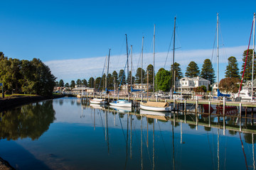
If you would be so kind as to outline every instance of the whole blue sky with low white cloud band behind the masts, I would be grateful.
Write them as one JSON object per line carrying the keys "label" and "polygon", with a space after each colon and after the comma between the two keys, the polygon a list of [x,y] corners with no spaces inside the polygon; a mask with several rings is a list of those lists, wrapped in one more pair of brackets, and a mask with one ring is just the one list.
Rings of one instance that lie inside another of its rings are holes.
{"label": "whole blue sky with low white cloud band behind the masts", "polygon": [[[110,72],[124,68],[125,34],[133,45],[134,70],[152,64],[156,24],[156,69],[164,67],[176,16],[176,62],[183,74],[191,61],[201,69],[211,59],[220,17],[220,79],[228,57],[242,62],[256,1],[0,1],[0,51],[7,57],[48,64],[58,80],[99,77],[111,48]],[[166,69],[171,65],[171,55]],[[216,70],[216,59],[213,57]],[[240,65],[241,68],[241,65]],[[133,71],[134,72],[134,71]]]}

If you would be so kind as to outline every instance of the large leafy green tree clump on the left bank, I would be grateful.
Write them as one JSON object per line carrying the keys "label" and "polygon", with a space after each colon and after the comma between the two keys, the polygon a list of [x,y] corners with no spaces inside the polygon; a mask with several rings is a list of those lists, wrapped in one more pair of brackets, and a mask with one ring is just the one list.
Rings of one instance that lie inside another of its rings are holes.
{"label": "large leafy green tree clump on the left bank", "polygon": [[7,93],[38,94],[51,96],[56,77],[46,64],[34,58],[31,61],[4,57],[0,53],[0,82]]}

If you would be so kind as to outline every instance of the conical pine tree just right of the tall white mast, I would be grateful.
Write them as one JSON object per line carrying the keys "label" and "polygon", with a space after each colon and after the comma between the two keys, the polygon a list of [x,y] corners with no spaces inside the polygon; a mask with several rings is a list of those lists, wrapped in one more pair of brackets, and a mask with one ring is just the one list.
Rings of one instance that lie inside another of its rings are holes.
{"label": "conical pine tree just right of the tall white mast", "polygon": [[239,78],[238,60],[231,56],[228,58],[228,66],[225,69],[225,77]]}

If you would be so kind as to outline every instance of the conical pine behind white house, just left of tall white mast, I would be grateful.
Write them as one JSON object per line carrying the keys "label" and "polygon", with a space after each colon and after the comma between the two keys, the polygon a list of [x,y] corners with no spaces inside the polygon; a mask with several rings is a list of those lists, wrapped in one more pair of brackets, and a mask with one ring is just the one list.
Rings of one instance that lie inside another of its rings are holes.
{"label": "conical pine behind white house, just left of tall white mast", "polygon": [[209,59],[204,60],[203,67],[201,69],[201,77],[203,79],[207,79],[210,81],[211,84],[215,81],[215,73],[213,69],[213,64],[210,62]]}

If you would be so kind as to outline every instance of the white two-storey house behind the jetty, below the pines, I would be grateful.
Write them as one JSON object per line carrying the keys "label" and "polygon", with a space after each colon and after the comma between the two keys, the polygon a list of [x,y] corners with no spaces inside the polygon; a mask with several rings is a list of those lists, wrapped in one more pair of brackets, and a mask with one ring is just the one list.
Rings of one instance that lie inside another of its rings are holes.
{"label": "white two-storey house behind the jetty, below the pines", "polygon": [[210,85],[210,81],[207,79],[203,79],[201,77],[183,77],[175,82],[176,91],[193,91],[194,88],[198,86],[206,86],[208,90],[208,86]]}

